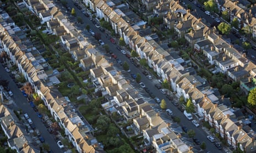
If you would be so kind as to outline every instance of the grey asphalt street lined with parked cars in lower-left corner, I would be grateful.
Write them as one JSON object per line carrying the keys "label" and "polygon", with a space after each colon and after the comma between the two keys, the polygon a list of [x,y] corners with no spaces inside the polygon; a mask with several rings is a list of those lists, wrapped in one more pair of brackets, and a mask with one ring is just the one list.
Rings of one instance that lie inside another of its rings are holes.
{"label": "grey asphalt street lined with parked cars in lower-left corner", "polygon": [[15,104],[18,107],[14,107],[13,109],[19,110],[21,109],[23,113],[27,113],[31,120],[34,122],[35,126],[39,131],[41,132],[41,135],[43,138],[45,138],[45,143],[50,145],[50,148],[53,152],[63,152],[63,150],[59,149],[57,142],[55,139],[53,139],[53,135],[51,135],[45,125],[41,122],[39,117],[37,117],[35,111],[32,109],[32,107],[29,105],[26,98],[23,96],[23,94],[20,92],[19,88],[16,86],[16,84],[13,82],[12,78],[10,78],[9,73],[4,70],[3,66],[0,66],[0,72],[2,79],[9,81],[9,88],[13,92],[13,100]]}

